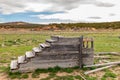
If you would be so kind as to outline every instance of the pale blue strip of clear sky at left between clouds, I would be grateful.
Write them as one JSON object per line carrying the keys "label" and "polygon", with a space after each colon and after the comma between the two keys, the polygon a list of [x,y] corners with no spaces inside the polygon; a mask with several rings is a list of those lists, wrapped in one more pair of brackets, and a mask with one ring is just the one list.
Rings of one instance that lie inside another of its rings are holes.
{"label": "pale blue strip of clear sky at left between clouds", "polygon": [[13,13],[13,14],[0,14],[0,18],[2,22],[16,22],[16,21],[24,21],[24,22],[50,22],[50,21],[60,21],[59,19],[40,19],[35,15],[52,15],[56,13],[62,12],[23,12],[23,13]]}

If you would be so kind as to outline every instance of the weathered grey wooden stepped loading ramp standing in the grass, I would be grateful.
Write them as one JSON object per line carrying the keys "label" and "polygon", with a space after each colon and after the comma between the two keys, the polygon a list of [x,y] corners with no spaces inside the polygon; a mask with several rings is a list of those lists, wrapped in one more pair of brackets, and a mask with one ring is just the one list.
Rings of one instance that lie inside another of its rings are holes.
{"label": "weathered grey wooden stepped loading ramp standing in the grass", "polygon": [[[93,40],[87,40],[87,44],[84,44],[86,41],[83,39],[83,36],[52,36],[51,39],[46,40],[39,47],[34,47],[32,51],[26,52],[26,63],[23,63],[23,58],[19,57],[19,68],[17,70],[29,72],[37,68],[92,65],[94,62]],[[91,43],[91,45],[88,43]]]}

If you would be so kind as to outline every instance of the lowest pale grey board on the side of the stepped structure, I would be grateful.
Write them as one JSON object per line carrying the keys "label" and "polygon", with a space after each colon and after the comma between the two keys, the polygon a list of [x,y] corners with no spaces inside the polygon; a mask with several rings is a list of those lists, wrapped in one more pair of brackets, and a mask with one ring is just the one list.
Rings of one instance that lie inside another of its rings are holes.
{"label": "lowest pale grey board on the side of the stepped structure", "polygon": [[34,71],[35,69],[47,69],[49,67],[59,66],[62,68],[78,66],[78,59],[66,59],[66,60],[36,60],[33,58],[31,62],[21,64],[18,69],[21,72]]}

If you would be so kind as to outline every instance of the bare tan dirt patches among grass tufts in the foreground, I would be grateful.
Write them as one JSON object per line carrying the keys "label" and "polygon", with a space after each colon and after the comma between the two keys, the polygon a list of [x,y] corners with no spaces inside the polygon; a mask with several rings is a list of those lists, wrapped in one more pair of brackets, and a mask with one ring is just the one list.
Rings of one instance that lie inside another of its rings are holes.
{"label": "bare tan dirt patches among grass tufts in the foreground", "polygon": [[[109,70],[111,70],[113,73],[115,73],[117,75],[117,77],[114,79],[107,78],[106,80],[120,80],[120,66],[112,67]],[[69,75],[75,76],[75,75],[81,75],[81,72],[82,72],[81,70],[75,70],[72,73],[58,72],[58,73],[56,73],[56,76],[69,76]],[[98,78],[97,80],[101,80],[101,78],[104,74],[105,74],[105,71],[103,70],[103,71],[98,71],[98,72],[89,74],[89,76],[97,77]],[[32,73],[28,73],[28,75],[29,75],[29,78],[27,78],[27,79],[14,79],[14,80],[41,80],[43,78],[48,77],[49,73],[41,73],[39,75],[39,78],[32,78],[32,76],[31,76]],[[8,78],[7,74],[5,74],[5,73],[0,73],[0,80],[13,80],[13,79]]]}

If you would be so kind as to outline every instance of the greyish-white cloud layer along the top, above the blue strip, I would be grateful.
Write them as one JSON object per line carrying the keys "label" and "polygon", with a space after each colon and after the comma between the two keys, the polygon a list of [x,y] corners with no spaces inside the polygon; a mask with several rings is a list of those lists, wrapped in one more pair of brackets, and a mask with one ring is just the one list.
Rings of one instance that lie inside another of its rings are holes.
{"label": "greyish-white cloud layer along the top, above the blue strip", "polygon": [[25,11],[68,11],[79,5],[92,4],[112,7],[114,4],[97,0],[0,0],[0,13],[12,14]]}

